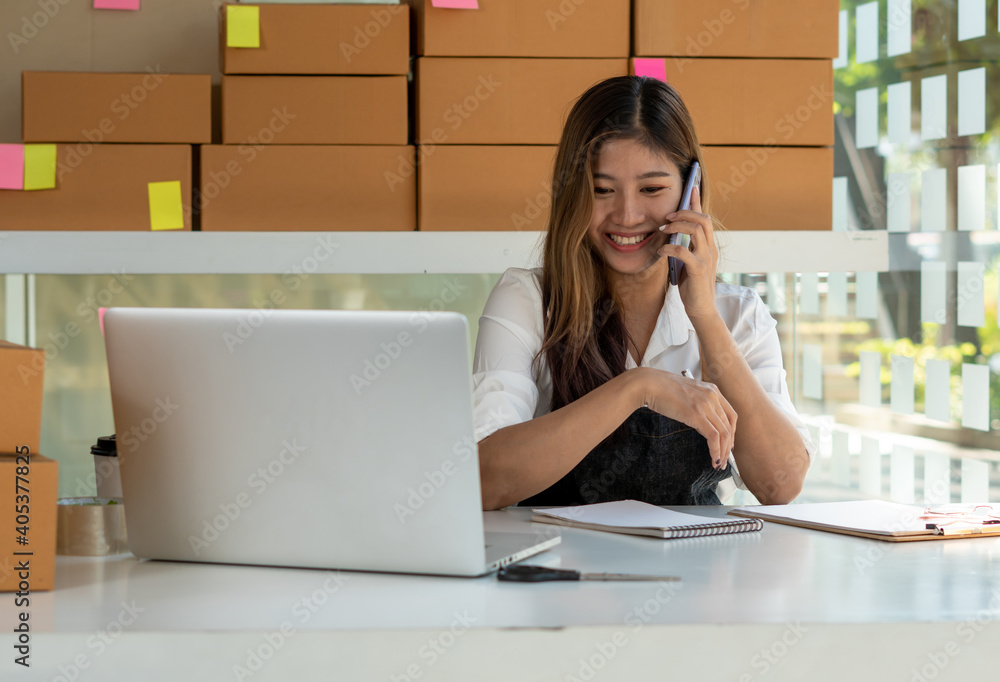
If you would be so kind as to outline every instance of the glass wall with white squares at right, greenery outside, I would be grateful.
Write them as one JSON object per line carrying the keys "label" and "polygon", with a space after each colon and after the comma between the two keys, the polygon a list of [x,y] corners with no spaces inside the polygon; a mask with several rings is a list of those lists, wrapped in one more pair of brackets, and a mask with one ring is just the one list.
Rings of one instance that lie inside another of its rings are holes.
{"label": "glass wall with white squares at right, greenery outside", "polygon": [[888,231],[889,268],[789,283],[804,497],[998,498],[997,11],[841,3],[834,229]]}

